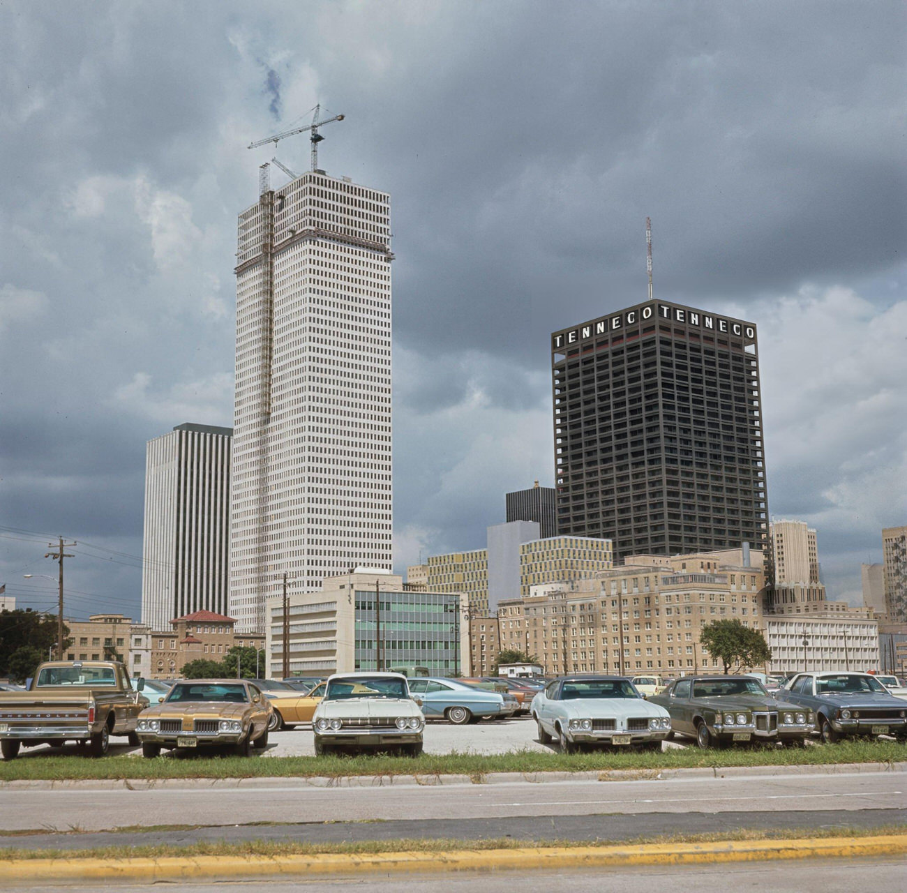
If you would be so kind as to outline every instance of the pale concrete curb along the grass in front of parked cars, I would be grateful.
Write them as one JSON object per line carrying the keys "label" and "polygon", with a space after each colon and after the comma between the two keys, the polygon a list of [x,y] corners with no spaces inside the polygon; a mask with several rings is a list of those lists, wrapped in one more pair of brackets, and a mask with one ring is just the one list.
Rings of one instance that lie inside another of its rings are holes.
{"label": "pale concrete curb along the grass in front of parked cars", "polygon": [[276,776],[257,778],[63,779],[0,781],[0,791],[150,791],[156,788],[268,789],[288,784],[312,788],[432,787],[449,784],[538,784],[569,781],[681,781],[776,775],[846,775],[907,772],[907,762],[839,762],[797,766],[715,766],[698,769],[613,769],[583,772],[488,772],[477,775]]}

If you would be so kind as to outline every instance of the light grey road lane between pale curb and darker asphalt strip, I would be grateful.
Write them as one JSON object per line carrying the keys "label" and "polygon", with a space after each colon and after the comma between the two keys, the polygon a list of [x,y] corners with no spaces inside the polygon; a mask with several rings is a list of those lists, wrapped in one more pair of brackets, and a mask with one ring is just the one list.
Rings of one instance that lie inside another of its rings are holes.
{"label": "light grey road lane between pale curb and darker asphalt strip", "polygon": [[368,787],[305,780],[166,781],[151,788],[6,788],[0,830],[110,830],[134,825],[251,822],[504,819],[641,813],[902,810],[902,772],[819,772],[640,781],[532,781],[419,785],[375,779]]}

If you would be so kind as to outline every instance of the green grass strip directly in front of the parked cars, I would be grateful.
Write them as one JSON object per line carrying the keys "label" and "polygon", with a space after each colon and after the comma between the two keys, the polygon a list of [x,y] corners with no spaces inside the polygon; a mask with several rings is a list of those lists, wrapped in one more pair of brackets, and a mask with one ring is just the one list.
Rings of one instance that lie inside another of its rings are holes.
{"label": "green grass strip directly in front of the parked cars", "polygon": [[451,752],[402,757],[388,754],[343,756],[205,756],[177,755],[157,760],[132,756],[92,759],[83,756],[45,756],[25,753],[0,762],[0,781],[64,781],[88,779],[206,779],[206,778],[345,778],[354,775],[467,775],[481,782],[491,772],[607,772],[660,769],[720,769],[732,766],[827,766],[836,763],[892,763],[907,759],[899,742],[845,741],[805,749],[735,747],[727,750],[670,750],[655,752],[545,753],[517,751],[483,755]]}

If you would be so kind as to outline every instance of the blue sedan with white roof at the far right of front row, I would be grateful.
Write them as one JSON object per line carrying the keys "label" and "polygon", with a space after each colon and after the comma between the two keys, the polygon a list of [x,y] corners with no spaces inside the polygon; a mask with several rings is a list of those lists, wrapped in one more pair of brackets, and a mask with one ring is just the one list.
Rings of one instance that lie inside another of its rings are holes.
{"label": "blue sedan with white roof at the far right of front row", "polygon": [[785,700],[814,710],[825,743],[845,735],[907,737],[907,704],[868,673],[800,673],[782,693]]}

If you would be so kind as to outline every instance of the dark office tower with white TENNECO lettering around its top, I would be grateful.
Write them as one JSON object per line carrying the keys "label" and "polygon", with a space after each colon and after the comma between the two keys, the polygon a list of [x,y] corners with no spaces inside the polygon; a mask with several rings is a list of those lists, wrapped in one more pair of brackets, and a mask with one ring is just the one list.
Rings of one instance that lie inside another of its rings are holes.
{"label": "dark office tower with white TENNECO lettering around its top", "polygon": [[756,325],[649,301],[551,335],[558,533],[766,547]]}

